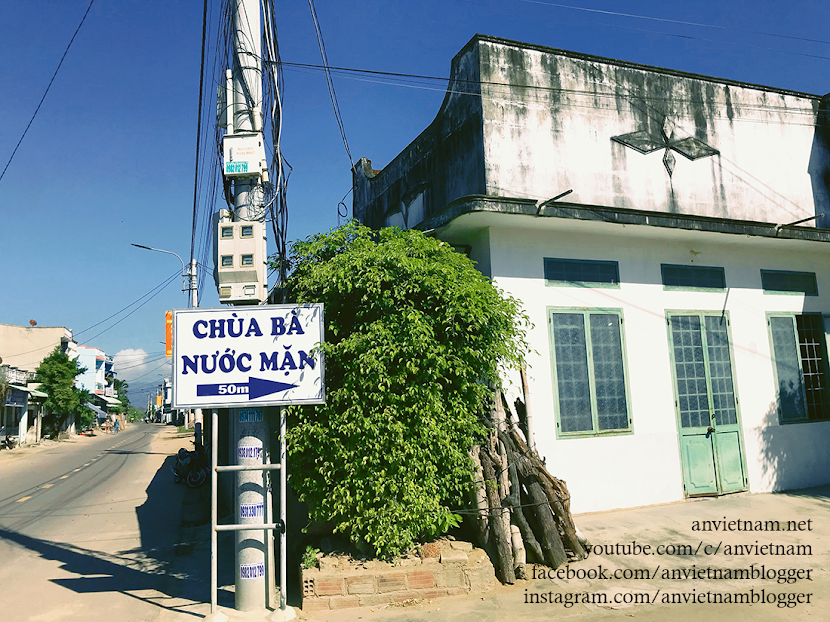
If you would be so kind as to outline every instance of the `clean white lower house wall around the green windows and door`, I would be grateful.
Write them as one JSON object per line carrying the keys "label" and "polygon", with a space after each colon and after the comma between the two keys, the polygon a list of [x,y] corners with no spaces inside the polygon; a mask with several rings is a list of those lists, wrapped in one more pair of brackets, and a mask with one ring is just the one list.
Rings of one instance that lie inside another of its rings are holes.
{"label": "clean white lower house wall around the green windows and door", "polygon": [[[667,310],[725,309],[729,314],[750,491],[830,481],[830,421],[778,422],[766,323],[766,313],[773,311],[830,315],[826,245],[513,218],[521,221],[521,228],[491,227],[484,236],[489,240],[489,268],[500,288],[523,301],[534,324],[529,340],[536,352],[529,359],[529,374],[537,447],[550,472],[567,481],[575,512],[683,498]],[[617,261],[621,285],[618,289],[546,286],[545,257]],[[661,263],[723,267],[727,291],[664,291]],[[760,269],[815,272],[819,296],[765,294]],[[549,307],[622,309],[633,434],[557,439]]]}

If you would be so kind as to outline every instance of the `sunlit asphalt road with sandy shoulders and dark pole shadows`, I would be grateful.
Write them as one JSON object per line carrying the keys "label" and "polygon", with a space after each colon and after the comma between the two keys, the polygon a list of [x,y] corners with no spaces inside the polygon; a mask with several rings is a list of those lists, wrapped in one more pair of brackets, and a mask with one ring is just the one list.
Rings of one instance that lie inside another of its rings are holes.
{"label": "sunlit asphalt road with sandy shoulders and dark pole shadows", "polygon": [[204,586],[175,554],[183,488],[169,466],[186,440],[173,432],[138,423],[0,455],[0,619],[200,617]]}

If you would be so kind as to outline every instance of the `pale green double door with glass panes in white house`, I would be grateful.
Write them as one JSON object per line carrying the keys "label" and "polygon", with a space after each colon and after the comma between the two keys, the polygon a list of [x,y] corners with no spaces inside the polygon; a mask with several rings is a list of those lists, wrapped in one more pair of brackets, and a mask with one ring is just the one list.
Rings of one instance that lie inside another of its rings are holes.
{"label": "pale green double door with glass panes in white house", "polygon": [[727,315],[677,312],[667,321],[686,494],[745,490]]}

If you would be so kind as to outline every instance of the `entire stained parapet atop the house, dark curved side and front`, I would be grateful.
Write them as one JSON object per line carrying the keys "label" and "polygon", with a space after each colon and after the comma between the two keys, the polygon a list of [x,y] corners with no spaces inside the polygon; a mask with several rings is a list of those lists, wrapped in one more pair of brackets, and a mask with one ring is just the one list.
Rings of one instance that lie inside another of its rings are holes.
{"label": "entire stained parapet atop the house, dark curved side and front", "polygon": [[[381,171],[365,159],[355,167],[365,224],[415,226],[406,208],[421,192],[426,220],[464,196],[547,200],[572,189],[565,201],[578,205],[776,224],[826,213],[805,226],[830,227],[827,96],[484,36],[450,75],[412,144]],[[663,147],[643,154],[612,140],[640,131]],[[716,153],[669,149],[669,174],[666,141],[682,139]]]}

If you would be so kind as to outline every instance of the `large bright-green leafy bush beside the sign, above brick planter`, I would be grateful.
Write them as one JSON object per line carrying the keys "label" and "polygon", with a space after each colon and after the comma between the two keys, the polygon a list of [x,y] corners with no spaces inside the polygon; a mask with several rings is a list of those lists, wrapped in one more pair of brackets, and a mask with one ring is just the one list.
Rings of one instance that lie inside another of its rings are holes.
{"label": "large bright-green leafy bush beside the sign, above brick planter", "polygon": [[382,557],[460,522],[469,450],[527,318],[418,231],[352,221],[292,245],[286,294],[325,304],[326,403],[293,407],[291,482],[311,517]]}

